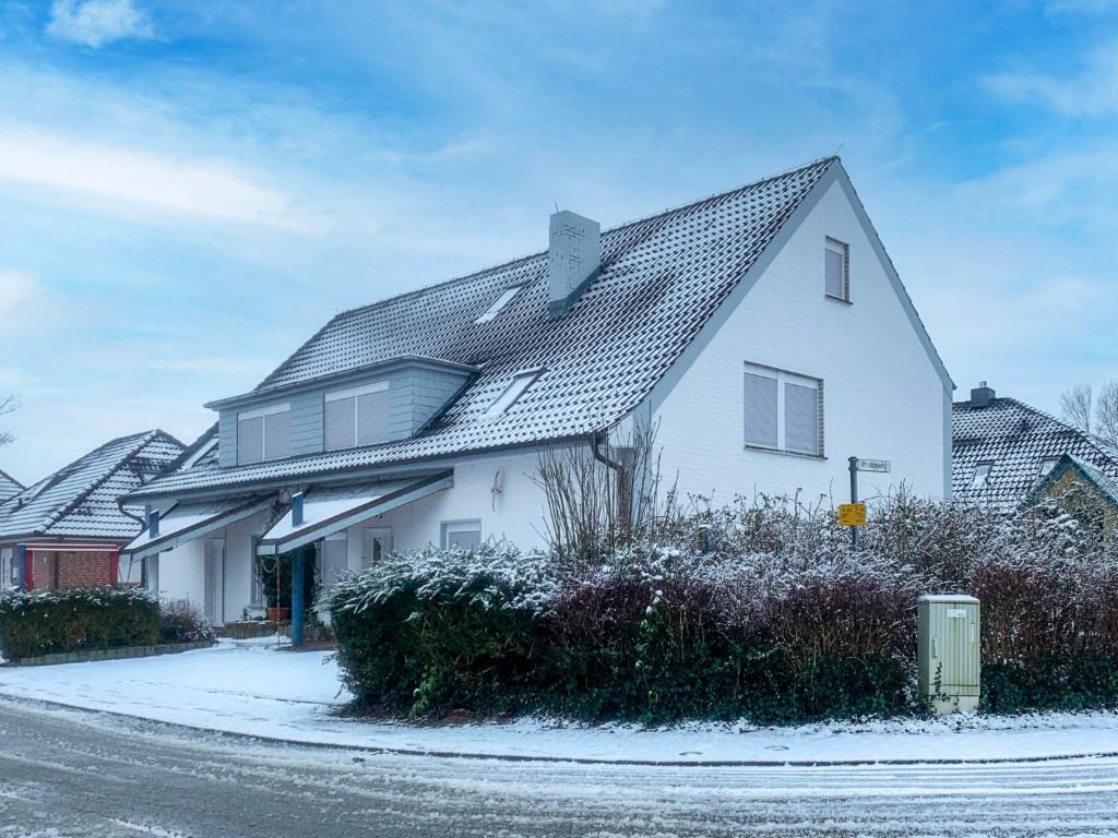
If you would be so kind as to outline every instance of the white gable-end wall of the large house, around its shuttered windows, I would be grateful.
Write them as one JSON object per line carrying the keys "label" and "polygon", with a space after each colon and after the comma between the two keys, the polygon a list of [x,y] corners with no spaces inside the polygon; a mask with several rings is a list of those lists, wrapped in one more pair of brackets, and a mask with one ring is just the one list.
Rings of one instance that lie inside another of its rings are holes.
{"label": "white gable-end wall of the large house, around its shuttered windows", "polygon": [[[823,293],[824,238],[850,245],[853,305]],[[825,459],[746,449],[743,365],[824,382]],[[862,497],[903,480],[942,496],[945,389],[842,187],[833,183],[799,229],[663,398],[663,473],[685,493],[849,498],[850,456],[892,460],[860,476]]]}

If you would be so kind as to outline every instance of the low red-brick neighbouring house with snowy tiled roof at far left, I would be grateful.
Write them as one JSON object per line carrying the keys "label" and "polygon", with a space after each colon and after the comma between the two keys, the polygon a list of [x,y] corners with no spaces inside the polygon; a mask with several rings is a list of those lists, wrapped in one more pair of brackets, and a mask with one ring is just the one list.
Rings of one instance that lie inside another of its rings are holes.
{"label": "low red-brick neighbouring house with snowy tiled roof at far left", "polygon": [[121,437],[9,497],[0,504],[0,583],[17,583],[21,546],[31,589],[139,583],[141,565],[121,563],[119,551],[141,531],[143,505],[122,510],[117,498],[182,449],[161,430]]}

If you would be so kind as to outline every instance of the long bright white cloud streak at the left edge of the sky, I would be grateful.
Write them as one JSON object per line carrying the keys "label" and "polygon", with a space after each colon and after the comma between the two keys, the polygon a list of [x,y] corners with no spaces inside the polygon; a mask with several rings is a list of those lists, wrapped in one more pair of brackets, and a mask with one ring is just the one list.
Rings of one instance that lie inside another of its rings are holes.
{"label": "long bright white cloud streak at the left edge of the sky", "polygon": [[203,220],[319,232],[283,192],[219,160],[98,145],[38,128],[0,126],[0,181],[126,202]]}

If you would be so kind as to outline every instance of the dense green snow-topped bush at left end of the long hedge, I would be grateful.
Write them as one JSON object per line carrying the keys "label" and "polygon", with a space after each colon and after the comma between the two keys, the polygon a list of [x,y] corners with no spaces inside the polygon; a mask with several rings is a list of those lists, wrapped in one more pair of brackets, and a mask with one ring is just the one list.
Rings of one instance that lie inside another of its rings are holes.
{"label": "dense green snow-topped bush at left end of the long hedge", "polygon": [[503,708],[533,669],[537,618],[557,590],[548,565],[485,544],[389,556],[340,580],[325,603],[357,704]]}

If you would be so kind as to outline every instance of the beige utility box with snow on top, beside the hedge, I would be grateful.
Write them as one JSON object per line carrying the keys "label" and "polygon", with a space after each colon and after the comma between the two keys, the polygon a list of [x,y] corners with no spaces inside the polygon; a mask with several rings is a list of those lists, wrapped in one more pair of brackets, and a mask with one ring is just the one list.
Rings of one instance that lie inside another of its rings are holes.
{"label": "beige utility box with snow on top, beside the hedge", "polygon": [[974,597],[928,594],[917,600],[917,680],[937,713],[978,708],[980,629]]}

